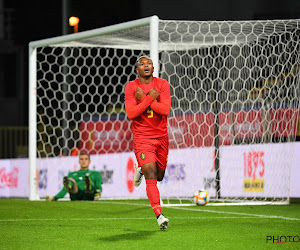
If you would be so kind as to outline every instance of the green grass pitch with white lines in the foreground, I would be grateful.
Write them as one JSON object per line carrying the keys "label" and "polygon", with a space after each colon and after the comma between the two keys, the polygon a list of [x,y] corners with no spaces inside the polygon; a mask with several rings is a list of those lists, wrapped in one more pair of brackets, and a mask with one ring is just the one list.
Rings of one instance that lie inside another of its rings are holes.
{"label": "green grass pitch with white lines in the foreground", "polygon": [[300,242],[276,241],[300,241],[300,204],[164,207],[163,213],[167,231],[159,230],[148,200],[0,199],[0,249],[300,249]]}

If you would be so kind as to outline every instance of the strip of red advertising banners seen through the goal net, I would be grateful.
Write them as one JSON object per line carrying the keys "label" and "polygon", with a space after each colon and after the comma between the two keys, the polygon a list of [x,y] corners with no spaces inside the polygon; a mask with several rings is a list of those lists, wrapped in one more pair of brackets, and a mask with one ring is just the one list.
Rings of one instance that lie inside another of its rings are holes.
{"label": "strip of red advertising banners seen through the goal net", "polygon": [[[234,139],[295,136],[297,108],[222,112],[218,115],[219,145]],[[213,113],[189,113],[168,118],[170,149],[210,147],[215,141],[217,117]],[[86,121],[80,125],[80,148],[90,154],[133,151],[131,121]]]}

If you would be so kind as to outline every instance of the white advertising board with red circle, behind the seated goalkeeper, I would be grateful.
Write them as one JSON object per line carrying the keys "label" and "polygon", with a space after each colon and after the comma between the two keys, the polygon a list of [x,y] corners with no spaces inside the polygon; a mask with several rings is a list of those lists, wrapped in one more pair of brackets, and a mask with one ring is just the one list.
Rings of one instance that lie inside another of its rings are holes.
{"label": "white advertising board with red circle, behind the seated goalkeeper", "polygon": [[[91,155],[90,169],[100,171],[102,175],[102,197],[145,197],[145,183],[138,189],[133,185],[134,162],[133,153]],[[79,168],[77,156],[39,160],[37,164],[39,196],[56,195],[63,188],[63,177]]]}

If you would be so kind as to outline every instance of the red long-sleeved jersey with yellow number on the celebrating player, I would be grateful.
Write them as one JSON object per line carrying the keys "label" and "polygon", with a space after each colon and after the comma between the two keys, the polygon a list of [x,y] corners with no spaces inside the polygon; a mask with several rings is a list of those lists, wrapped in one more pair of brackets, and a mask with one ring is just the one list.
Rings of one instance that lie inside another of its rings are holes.
{"label": "red long-sleeved jersey with yellow number on the celebrating player", "polygon": [[[135,97],[135,90],[140,87],[145,95],[141,100]],[[147,94],[155,88],[159,96],[154,100]],[[167,116],[171,109],[170,84],[161,78],[153,77],[149,84],[143,84],[137,78],[125,87],[125,108],[132,120],[133,138],[159,138],[168,134]]]}

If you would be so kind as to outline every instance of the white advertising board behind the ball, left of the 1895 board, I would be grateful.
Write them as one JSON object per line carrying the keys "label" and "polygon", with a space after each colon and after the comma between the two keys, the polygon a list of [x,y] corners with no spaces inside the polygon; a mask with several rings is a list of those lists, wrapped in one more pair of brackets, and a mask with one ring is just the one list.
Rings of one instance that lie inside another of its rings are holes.
{"label": "white advertising board behind the ball, left of the 1895 board", "polygon": [[159,183],[162,197],[192,197],[205,188],[215,196],[214,148],[170,150],[165,177]]}

